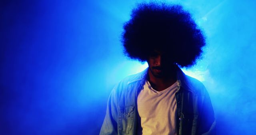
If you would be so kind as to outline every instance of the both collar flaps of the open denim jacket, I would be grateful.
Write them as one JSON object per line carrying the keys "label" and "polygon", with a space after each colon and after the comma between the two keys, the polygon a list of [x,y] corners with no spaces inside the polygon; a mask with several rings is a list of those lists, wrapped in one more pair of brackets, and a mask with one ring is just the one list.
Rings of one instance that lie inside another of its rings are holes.
{"label": "both collar flaps of the open denim jacket", "polygon": [[[141,84],[145,82],[146,76],[148,74],[148,67],[140,72],[137,73],[127,84],[133,83],[135,81],[141,81]],[[185,90],[191,91],[194,93],[194,89],[192,89],[192,85],[190,80],[188,79],[187,75],[177,66],[177,81],[178,81],[178,89],[182,87]]]}

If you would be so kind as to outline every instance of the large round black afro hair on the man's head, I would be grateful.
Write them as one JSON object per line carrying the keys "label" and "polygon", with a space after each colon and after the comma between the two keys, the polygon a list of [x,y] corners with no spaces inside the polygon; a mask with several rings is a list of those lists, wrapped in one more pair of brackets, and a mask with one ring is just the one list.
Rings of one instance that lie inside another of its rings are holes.
{"label": "large round black afro hair on the man's head", "polygon": [[205,36],[181,5],[140,3],[123,26],[124,54],[145,62],[154,50],[165,51],[174,63],[191,67],[201,57]]}

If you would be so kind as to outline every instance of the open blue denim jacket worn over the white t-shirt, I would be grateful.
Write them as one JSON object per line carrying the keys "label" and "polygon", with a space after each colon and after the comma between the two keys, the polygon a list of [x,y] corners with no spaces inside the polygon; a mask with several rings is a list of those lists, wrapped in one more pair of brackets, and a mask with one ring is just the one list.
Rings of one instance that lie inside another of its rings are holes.
{"label": "open blue denim jacket worn over the white t-shirt", "polygon": [[[111,91],[100,135],[136,135],[142,127],[137,97],[146,82],[148,68],[120,81]],[[204,85],[177,67],[177,135],[215,135],[215,117]],[[157,110],[156,110],[157,111]]]}

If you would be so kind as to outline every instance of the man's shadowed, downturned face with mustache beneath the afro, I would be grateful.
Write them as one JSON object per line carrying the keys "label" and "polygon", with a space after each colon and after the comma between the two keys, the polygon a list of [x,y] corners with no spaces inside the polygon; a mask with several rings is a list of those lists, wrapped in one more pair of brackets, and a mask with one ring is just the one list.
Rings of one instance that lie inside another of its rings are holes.
{"label": "man's shadowed, downturned face with mustache beneath the afro", "polygon": [[173,60],[165,52],[153,51],[147,62],[152,75],[158,78],[168,77],[175,69]]}

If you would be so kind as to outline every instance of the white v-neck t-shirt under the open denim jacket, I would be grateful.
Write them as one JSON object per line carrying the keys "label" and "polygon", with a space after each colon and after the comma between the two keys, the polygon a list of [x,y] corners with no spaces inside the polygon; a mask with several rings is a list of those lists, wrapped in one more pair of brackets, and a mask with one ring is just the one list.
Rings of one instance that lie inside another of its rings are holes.
{"label": "white v-neck t-shirt under the open denim jacket", "polygon": [[177,81],[170,87],[154,90],[146,81],[138,95],[138,113],[141,117],[142,135],[176,135]]}

